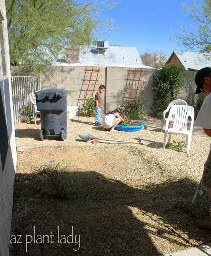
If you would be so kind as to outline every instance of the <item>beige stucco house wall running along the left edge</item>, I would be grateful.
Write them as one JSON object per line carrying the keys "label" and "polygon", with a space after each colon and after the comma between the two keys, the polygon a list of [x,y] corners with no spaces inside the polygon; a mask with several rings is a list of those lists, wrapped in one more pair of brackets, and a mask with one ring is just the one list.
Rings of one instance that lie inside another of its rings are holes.
{"label": "beige stucco house wall running along the left edge", "polygon": [[[0,255],[9,255],[10,227],[12,220],[13,185],[16,170],[16,142],[12,109],[9,46],[4,0],[0,0],[3,38],[0,48]],[[2,29],[2,27],[0,29]],[[4,52],[4,54],[2,54]],[[5,55],[5,56],[4,56]],[[4,63],[5,62],[5,63]],[[4,66],[4,68],[2,68]],[[2,72],[2,70],[4,70]]]}

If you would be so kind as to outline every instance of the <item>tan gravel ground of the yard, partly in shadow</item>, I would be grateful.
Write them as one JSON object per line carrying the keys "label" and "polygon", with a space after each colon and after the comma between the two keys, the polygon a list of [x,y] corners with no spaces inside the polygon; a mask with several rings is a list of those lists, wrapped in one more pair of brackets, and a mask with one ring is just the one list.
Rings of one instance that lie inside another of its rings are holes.
{"label": "tan gravel ground of the yard, partly in shadow", "polygon": [[[208,215],[205,187],[191,206],[209,151],[210,138],[202,129],[194,128],[186,154],[162,149],[160,119],[146,117],[138,132],[111,133],[94,122],[82,116],[68,120],[64,141],[41,141],[39,120],[15,125],[17,148],[24,153],[18,152],[12,234],[23,239],[11,245],[10,255],[156,256],[210,244],[210,232],[195,225],[196,218]],[[79,134],[143,144],[92,144]],[[172,139],[185,141],[183,135]],[[50,159],[69,170],[69,199],[36,187],[32,173]],[[52,241],[44,240],[50,232]]]}

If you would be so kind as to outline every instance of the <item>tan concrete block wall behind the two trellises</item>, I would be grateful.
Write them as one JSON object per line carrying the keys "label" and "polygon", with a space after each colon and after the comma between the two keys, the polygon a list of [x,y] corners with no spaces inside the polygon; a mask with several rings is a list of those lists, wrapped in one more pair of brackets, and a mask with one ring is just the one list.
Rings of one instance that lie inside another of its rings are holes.
{"label": "tan concrete block wall behind the two trellises", "polygon": [[[91,75],[92,68],[100,68],[99,81],[97,81],[97,84],[104,84],[106,86],[106,90],[102,94],[104,102],[102,113],[119,107],[122,101],[127,99],[129,67],[89,66],[87,68],[88,76]],[[86,66],[49,66],[48,68],[45,67],[45,71],[46,70],[48,70],[48,72],[41,74],[41,88],[61,88],[73,91],[72,94],[68,96],[68,105],[82,107],[85,95]],[[142,69],[142,99],[144,100],[145,114],[150,114],[150,108],[152,107],[154,98],[152,92],[153,76],[156,75],[156,72],[157,70],[155,69]],[[189,105],[194,107],[198,99],[198,95],[195,95],[196,72],[185,71],[185,74],[187,81],[182,86],[178,98],[185,100]],[[15,75],[15,68],[12,67],[12,76]],[[87,89],[91,90],[91,86]],[[93,90],[97,91],[98,85],[93,85]],[[95,93],[93,93],[93,96],[94,95]]]}

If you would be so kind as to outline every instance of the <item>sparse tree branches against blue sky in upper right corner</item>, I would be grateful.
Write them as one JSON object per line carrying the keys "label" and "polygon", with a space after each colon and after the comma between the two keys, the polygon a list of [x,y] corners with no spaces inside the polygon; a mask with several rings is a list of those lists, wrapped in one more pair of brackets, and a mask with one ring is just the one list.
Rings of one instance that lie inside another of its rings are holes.
{"label": "sparse tree branches against blue sky in upper right corner", "polygon": [[192,20],[190,28],[179,26],[178,34],[174,33],[172,40],[186,50],[211,50],[211,1],[193,1],[191,5],[183,5],[184,13]]}

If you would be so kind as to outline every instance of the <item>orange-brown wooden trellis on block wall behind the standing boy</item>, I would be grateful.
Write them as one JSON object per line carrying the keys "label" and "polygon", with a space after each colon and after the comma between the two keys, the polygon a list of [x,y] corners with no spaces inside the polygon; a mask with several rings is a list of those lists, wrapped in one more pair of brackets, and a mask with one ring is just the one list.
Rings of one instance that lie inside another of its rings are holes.
{"label": "orange-brown wooden trellis on block wall behind the standing boy", "polygon": [[86,67],[85,70],[85,78],[83,83],[83,89],[84,90],[84,102],[86,101],[87,95],[93,96],[94,92],[98,90],[100,86],[100,73],[101,68],[88,68]]}

